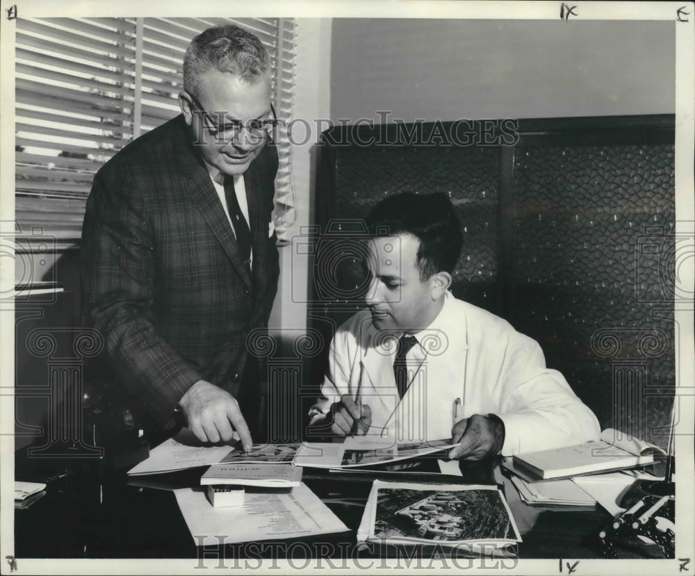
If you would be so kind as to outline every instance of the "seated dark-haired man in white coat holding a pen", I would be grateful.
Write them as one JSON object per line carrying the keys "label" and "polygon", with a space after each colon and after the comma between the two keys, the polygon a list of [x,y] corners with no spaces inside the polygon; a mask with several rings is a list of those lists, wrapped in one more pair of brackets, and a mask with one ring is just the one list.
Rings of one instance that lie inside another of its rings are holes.
{"label": "seated dark-haired man in white coat holding a pen", "polygon": [[598,440],[535,340],[448,291],[462,235],[445,195],[389,197],[367,224],[367,308],[336,331],[312,425],[398,443],[452,436],[450,458],[470,460]]}

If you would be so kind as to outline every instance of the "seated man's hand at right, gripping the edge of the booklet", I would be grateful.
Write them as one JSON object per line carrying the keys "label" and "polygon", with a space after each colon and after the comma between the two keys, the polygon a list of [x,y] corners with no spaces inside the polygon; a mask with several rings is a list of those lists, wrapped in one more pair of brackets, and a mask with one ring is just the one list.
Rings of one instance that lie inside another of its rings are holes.
{"label": "seated man's hand at right, gripping the edge of the booklet", "polygon": [[449,451],[450,459],[482,460],[495,456],[505,443],[505,425],[499,418],[473,414],[451,429],[452,441],[461,445]]}

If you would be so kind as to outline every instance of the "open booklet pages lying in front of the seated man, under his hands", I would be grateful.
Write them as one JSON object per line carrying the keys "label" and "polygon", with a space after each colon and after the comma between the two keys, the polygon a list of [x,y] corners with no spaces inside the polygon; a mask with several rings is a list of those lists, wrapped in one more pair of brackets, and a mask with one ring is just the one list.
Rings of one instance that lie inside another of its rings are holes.
{"label": "open booklet pages lying in front of the seated man, under his hands", "polygon": [[348,436],[343,443],[304,443],[293,460],[295,466],[309,468],[357,468],[375,466],[443,452],[458,446],[451,439],[396,444],[385,438]]}

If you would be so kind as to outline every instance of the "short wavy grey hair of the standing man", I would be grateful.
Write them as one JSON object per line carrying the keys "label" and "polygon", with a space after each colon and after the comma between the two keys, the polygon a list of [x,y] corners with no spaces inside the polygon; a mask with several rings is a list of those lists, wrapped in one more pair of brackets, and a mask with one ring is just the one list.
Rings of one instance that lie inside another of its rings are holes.
{"label": "short wavy grey hair of the standing man", "polygon": [[252,33],[234,24],[216,26],[191,40],[183,57],[183,90],[198,97],[200,77],[213,68],[253,84],[270,74],[270,56]]}

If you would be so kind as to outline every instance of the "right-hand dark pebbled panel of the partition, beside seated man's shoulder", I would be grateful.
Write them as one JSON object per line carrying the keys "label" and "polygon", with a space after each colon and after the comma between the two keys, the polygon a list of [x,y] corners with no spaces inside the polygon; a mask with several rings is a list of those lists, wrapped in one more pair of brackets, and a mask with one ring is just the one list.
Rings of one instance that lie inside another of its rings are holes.
{"label": "right-hand dark pebbled panel of the partition, beside seated man's shoulder", "polygon": [[512,196],[509,320],[602,427],[666,445],[673,310],[644,290],[661,282],[668,293],[669,274],[639,245],[651,236],[669,252],[673,145],[521,145]]}

